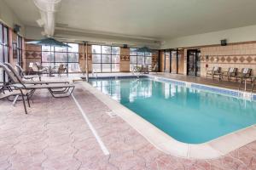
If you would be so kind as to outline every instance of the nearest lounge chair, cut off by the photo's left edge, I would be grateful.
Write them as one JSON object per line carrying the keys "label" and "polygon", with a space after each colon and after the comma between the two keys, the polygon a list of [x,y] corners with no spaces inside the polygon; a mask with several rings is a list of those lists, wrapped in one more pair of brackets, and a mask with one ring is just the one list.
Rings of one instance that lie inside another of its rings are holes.
{"label": "nearest lounge chair, cut off by the photo's left edge", "polygon": [[[6,85],[3,85],[3,84],[2,85],[0,84],[0,88],[11,89],[11,86],[6,86]],[[9,90],[1,90],[0,91],[0,99],[8,99],[10,96],[16,96],[15,99],[17,99],[19,96],[21,96],[24,111],[27,114],[26,102],[25,102],[24,96],[26,96],[26,98],[27,98],[27,103],[28,103],[29,107],[30,107],[30,103],[29,103],[29,99],[27,97],[26,91],[22,90],[21,88],[17,88],[17,87],[15,87],[15,89],[12,89],[10,91]]]}

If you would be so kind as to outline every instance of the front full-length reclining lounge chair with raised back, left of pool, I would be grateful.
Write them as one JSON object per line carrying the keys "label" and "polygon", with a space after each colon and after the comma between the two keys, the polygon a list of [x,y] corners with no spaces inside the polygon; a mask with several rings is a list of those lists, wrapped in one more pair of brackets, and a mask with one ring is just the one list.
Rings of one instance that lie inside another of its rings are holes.
{"label": "front full-length reclining lounge chair with raised back, left of pool", "polygon": [[49,93],[54,98],[62,98],[71,95],[75,88],[75,86],[71,84],[26,84],[20,81],[20,78],[17,77],[17,75],[11,71],[7,65],[0,64],[0,68],[3,68],[3,71],[8,74],[12,86],[28,90],[29,97],[32,97],[32,94],[34,94],[37,89],[48,89]]}

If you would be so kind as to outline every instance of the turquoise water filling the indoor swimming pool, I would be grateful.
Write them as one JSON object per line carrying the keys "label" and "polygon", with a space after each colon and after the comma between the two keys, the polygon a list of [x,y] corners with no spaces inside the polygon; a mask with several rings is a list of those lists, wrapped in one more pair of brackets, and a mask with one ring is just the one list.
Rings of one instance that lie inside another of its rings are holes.
{"label": "turquoise water filling the indoor swimming pool", "polygon": [[201,144],[256,122],[254,101],[150,78],[97,79],[90,84],[184,143]]}

